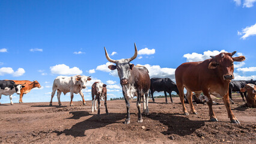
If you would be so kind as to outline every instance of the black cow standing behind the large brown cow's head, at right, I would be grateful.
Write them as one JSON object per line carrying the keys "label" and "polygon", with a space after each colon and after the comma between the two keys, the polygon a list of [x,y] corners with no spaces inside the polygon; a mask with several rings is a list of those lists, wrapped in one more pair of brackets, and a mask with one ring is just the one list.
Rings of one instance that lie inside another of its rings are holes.
{"label": "black cow standing behind the large brown cow's head, at right", "polygon": [[246,84],[247,83],[245,80],[231,80],[230,86],[228,88],[228,95],[230,97],[231,103],[234,103],[232,99],[232,92],[239,92],[241,97],[243,98],[243,101],[245,101],[244,97],[246,97],[246,92],[241,92],[240,89],[245,88]]}

